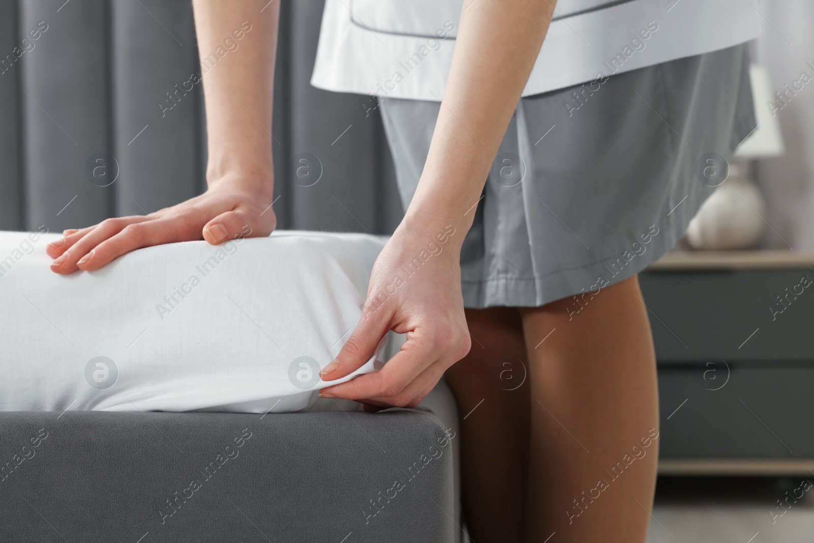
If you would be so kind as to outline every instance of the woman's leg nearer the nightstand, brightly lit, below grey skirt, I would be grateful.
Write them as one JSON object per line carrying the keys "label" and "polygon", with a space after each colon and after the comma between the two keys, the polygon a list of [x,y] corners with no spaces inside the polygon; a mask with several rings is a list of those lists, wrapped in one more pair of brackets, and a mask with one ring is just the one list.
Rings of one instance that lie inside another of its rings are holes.
{"label": "woman's leg nearer the nightstand, brightly lit, below grey skirt", "polygon": [[641,300],[633,277],[580,304],[520,311],[532,378],[530,541],[646,540],[659,404]]}

